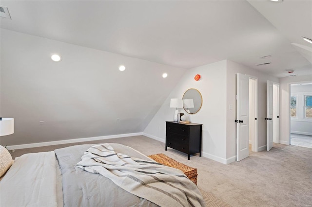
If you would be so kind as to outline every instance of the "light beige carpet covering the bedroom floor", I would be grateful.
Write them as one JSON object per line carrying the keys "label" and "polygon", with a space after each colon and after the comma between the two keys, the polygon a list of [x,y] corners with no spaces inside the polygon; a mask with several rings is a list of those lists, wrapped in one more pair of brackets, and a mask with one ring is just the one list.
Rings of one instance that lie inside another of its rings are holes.
{"label": "light beige carpet covering the bedroom floor", "polygon": [[[198,188],[233,207],[312,206],[311,148],[274,144],[270,152],[250,152],[246,159],[224,165],[198,155],[191,156],[188,160],[187,155],[171,148],[165,151],[164,143],[144,136],[84,143],[107,142],[128,145],[145,155],[163,153],[197,168]],[[71,145],[75,144],[21,149],[12,153],[12,156],[51,151]]]}

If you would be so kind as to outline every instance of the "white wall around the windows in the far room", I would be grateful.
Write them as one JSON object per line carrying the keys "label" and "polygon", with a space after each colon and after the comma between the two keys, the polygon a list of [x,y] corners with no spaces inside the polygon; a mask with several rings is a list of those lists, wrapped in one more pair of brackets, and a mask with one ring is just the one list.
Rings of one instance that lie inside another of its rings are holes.
{"label": "white wall around the windows in the far room", "polygon": [[291,133],[312,135],[312,119],[307,119],[304,115],[305,95],[312,95],[312,84],[291,85],[291,96],[297,96],[297,116],[291,117]]}

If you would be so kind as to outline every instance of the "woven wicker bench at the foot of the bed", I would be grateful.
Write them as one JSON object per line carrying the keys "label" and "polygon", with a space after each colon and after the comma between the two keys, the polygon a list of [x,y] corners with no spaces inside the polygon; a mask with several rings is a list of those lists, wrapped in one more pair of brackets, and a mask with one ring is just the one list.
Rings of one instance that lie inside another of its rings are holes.
{"label": "woven wicker bench at the foot of the bed", "polygon": [[160,164],[181,170],[188,178],[190,178],[190,180],[192,180],[197,185],[197,169],[196,168],[192,168],[190,166],[177,162],[176,160],[162,153],[155,154],[155,155],[148,155],[148,157],[150,157],[151,159],[154,159],[156,162],[159,162]]}

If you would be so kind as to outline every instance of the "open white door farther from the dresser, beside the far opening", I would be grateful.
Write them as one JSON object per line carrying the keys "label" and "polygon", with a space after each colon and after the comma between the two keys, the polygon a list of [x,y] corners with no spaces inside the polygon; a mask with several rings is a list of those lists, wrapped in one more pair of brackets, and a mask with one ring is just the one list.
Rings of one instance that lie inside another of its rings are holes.
{"label": "open white door farther from the dresser, beside the far opening", "polygon": [[273,147],[273,82],[267,83],[267,150],[270,151]]}

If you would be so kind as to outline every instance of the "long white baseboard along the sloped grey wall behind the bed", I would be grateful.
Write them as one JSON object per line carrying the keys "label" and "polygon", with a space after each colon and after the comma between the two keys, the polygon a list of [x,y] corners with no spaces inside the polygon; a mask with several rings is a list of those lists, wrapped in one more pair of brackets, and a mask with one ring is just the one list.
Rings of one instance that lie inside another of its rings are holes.
{"label": "long white baseboard along the sloped grey wall behind the bed", "polygon": [[108,135],[108,136],[92,137],[92,138],[74,138],[74,139],[65,139],[65,140],[59,140],[59,141],[47,141],[47,142],[39,142],[39,143],[31,143],[31,144],[11,145],[11,146],[7,146],[6,148],[8,150],[18,150],[18,149],[25,149],[25,148],[57,145],[57,144],[68,144],[68,143],[76,143],[76,142],[83,142],[83,141],[95,141],[95,140],[109,139],[109,138],[133,137],[133,136],[140,136],[140,135],[143,135],[143,133],[139,132],[139,133],[121,134],[121,135]]}

